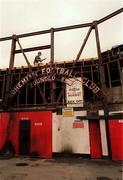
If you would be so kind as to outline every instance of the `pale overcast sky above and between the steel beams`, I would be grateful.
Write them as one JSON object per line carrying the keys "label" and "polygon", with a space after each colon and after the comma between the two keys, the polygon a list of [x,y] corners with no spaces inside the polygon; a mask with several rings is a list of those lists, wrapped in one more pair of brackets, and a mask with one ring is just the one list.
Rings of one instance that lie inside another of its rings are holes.
{"label": "pale overcast sky above and between the steel beams", "polygon": [[[123,7],[123,0],[0,0],[0,37],[33,31],[82,24],[98,20]],[[55,61],[76,58],[88,28],[55,33]],[[81,58],[96,57],[94,32],[88,40]],[[123,13],[99,25],[101,50],[123,43]],[[23,48],[47,45],[50,36],[41,35],[20,39]],[[8,67],[11,41],[0,42],[0,68]],[[27,53],[31,64],[37,52]],[[42,57],[49,61],[49,50]],[[26,65],[16,55],[15,66]]]}

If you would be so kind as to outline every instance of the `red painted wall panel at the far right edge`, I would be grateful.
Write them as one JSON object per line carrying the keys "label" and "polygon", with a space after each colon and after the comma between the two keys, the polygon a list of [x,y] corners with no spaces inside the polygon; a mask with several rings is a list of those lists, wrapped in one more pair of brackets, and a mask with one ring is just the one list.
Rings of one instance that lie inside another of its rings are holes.
{"label": "red painted wall panel at the far right edge", "polygon": [[109,133],[113,160],[123,160],[123,120],[109,120]]}

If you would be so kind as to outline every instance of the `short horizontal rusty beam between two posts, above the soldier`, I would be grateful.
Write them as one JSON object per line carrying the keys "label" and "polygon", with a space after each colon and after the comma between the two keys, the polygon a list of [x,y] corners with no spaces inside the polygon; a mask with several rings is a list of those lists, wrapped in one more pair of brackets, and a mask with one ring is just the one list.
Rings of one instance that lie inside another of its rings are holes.
{"label": "short horizontal rusty beam between two posts, above the soldier", "polygon": [[[43,50],[43,49],[50,49],[50,45],[45,45],[45,46],[37,46],[37,47],[32,47],[32,48],[25,48],[23,49],[23,52],[30,52],[30,51],[37,51],[37,50]],[[22,53],[20,49],[15,50],[15,54]]]}

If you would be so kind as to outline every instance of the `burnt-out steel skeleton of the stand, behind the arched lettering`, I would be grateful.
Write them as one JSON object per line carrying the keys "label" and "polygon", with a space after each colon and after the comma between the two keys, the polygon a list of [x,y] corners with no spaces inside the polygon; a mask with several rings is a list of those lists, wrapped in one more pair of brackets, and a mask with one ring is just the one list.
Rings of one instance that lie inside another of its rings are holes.
{"label": "burnt-out steel skeleton of the stand, behind the arched lettering", "polygon": [[[16,107],[28,107],[28,106],[50,106],[50,107],[56,107],[58,105],[64,106],[66,105],[66,97],[65,97],[65,81],[62,81],[62,77],[59,77],[59,74],[56,74],[58,76],[56,79],[57,81],[47,81],[42,84],[37,84],[34,88],[29,88],[31,86],[30,84],[26,84],[19,89],[17,96],[14,98],[10,98],[10,92],[12,91],[12,88],[17,85],[18,82],[22,78],[26,76],[26,74],[34,74],[35,71],[38,72],[38,75],[40,75],[40,66],[33,67],[31,66],[27,56],[26,52],[30,51],[36,51],[36,50],[42,50],[42,49],[51,49],[50,51],[50,63],[44,65],[45,68],[54,68],[56,67],[56,63],[54,63],[54,35],[55,32],[65,31],[65,30],[71,30],[71,29],[78,29],[78,28],[85,28],[89,27],[89,30],[87,32],[87,35],[82,43],[82,46],[80,47],[80,50],[73,62],[66,62],[66,63],[57,63],[58,67],[64,67],[68,69],[72,69],[74,73],[76,73],[76,77],[87,77],[90,82],[96,83],[98,87],[100,88],[100,93],[98,95],[92,94],[90,92],[90,89],[88,87],[84,87],[84,96],[85,96],[85,104],[86,102],[94,103],[95,101],[101,101],[103,105],[107,104],[107,98],[105,92],[107,91],[106,86],[109,86],[110,89],[112,89],[112,86],[118,86],[121,85],[121,67],[122,67],[122,46],[118,48],[114,48],[114,50],[111,50],[107,52],[101,52],[100,47],[100,40],[99,40],[99,32],[98,32],[98,25],[100,23],[103,23],[104,21],[120,14],[123,12],[123,8],[113,12],[110,15],[107,15],[100,20],[93,21],[91,23],[85,23],[85,24],[78,24],[78,25],[72,25],[72,26],[66,26],[66,27],[60,27],[60,28],[51,28],[49,30],[44,31],[37,31],[27,34],[20,34],[20,35],[12,35],[9,37],[3,37],[0,38],[0,41],[7,41],[12,40],[11,45],[11,54],[10,54],[10,63],[9,68],[7,71],[1,71],[1,108],[9,108],[10,106],[13,107],[13,105]],[[83,49],[88,41],[88,38],[92,32],[92,30],[95,31],[95,41],[97,46],[97,54],[98,58],[97,60],[91,60],[91,61],[80,61],[80,56],[83,52]],[[29,36],[36,36],[41,34],[50,34],[50,44],[44,45],[44,46],[36,46],[36,47],[30,47],[23,49],[19,39],[20,38],[26,38]],[[20,49],[16,49],[16,44],[18,44]],[[112,55],[115,52],[115,55]],[[119,54],[118,54],[119,52]],[[27,68],[20,68],[16,69],[14,68],[14,57],[15,54],[22,53],[25,61],[28,65]],[[106,54],[106,57],[105,57]],[[115,58],[112,62],[112,56]],[[108,58],[108,61],[106,59]],[[112,66],[114,70],[111,70]],[[117,71],[117,78],[112,75],[112,72]],[[46,73],[45,73],[46,74]],[[53,74],[52,74],[53,75]],[[107,78],[108,76],[108,78]],[[33,80],[36,80],[37,76],[33,76]],[[65,77],[66,78],[66,77]],[[114,80],[112,81],[112,79]],[[59,80],[58,80],[59,79]],[[114,82],[116,80],[116,82]],[[111,92],[111,91],[110,91]],[[88,95],[86,95],[88,94]],[[91,98],[90,98],[91,97]],[[89,100],[88,100],[89,99]],[[12,102],[11,102],[12,100]],[[110,100],[109,100],[110,101]],[[14,104],[13,104],[14,103]]]}

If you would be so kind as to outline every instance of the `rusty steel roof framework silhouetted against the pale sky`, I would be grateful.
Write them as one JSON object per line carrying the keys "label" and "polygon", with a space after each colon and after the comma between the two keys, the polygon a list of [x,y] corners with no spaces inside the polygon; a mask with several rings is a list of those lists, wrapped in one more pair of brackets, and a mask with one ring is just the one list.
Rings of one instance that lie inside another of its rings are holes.
{"label": "rusty steel roof framework silhouetted against the pale sky", "polygon": [[[84,47],[88,41],[88,38],[92,32],[92,30],[95,31],[95,40],[96,40],[96,46],[97,46],[97,54],[98,54],[98,59],[99,59],[99,74],[100,74],[100,82],[101,82],[101,89],[102,91],[104,90],[104,84],[105,84],[105,77],[104,77],[104,67],[103,67],[103,63],[102,63],[102,55],[101,55],[101,47],[100,47],[100,39],[99,39],[99,31],[98,31],[98,25],[100,23],[103,23],[104,21],[107,21],[108,19],[120,14],[123,12],[123,8],[99,19],[96,21],[93,21],[91,23],[85,23],[85,24],[78,24],[78,25],[72,25],[72,26],[65,26],[65,27],[59,27],[59,28],[51,28],[49,30],[43,30],[43,31],[37,31],[37,32],[31,32],[31,33],[26,33],[26,34],[20,34],[20,35],[12,35],[12,36],[8,36],[8,37],[3,37],[0,38],[0,41],[7,41],[7,40],[12,40],[12,44],[11,44],[11,54],[10,54],[10,61],[9,61],[9,74],[11,73],[12,68],[14,67],[14,57],[15,54],[17,53],[22,53],[26,63],[29,67],[30,72],[32,71],[32,67],[29,63],[29,60],[25,54],[25,52],[30,52],[30,51],[36,51],[36,50],[42,50],[42,49],[50,49],[50,64],[51,66],[54,64],[54,34],[55,32],[60,32],[60,31],[66,31],[66,30],[71,30],[71,29],[78,29],[78,28],[86,28],[89,27],[89,30],[85,36],[85,39],[82,42],[82,45],[80,47],[80,50],[73,62],[73,64],[75,65],[75,63],[77,61],[79,61],[80,56],[84,50]],[[19,39],[20,38],[25,38],[25,37],[29,37],[29,36],[36,36],[36,35],[41,35],[41,34],[50,34],[50,44],[45,45],[45,46],[37,46],[37,47],[31,47],[31,48],[25,48],[23,49]],[[16,43],[18,43],[20,49],[16,50]],[[7,78],[7,86],[6,86],[6,94],[9,92],[9,84],[10,84],[10,76],[8,76]],[[53,86],[53,84],[52,84]],[[40,89],[40,87],[38,87],[39,92],[41,94],[42,97],[43,93]],[[7,95],[5,96],[5,99],[7,98]],[[45,101],[45,99],[44,99]]]}

